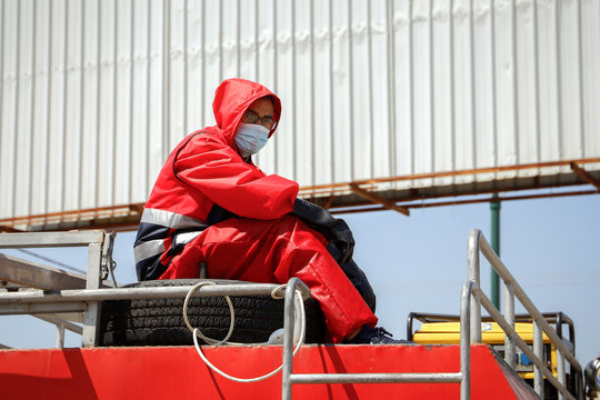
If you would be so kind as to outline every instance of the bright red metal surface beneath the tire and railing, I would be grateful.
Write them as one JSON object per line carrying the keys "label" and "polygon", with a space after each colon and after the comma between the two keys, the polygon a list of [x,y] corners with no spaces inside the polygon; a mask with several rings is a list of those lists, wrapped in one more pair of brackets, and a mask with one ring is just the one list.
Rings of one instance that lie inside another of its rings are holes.
{"label": "bright red metal surface beneath the tire and railing", "polygon": [[[281,362],[279,347],[203,350],[239,377]],[[472,399],[518,399],[488,347],[473,346],[471,359]],[[294,360],[297,373],[458,370],[457,346],[306,346]],[[0,388],[4,399],[280,399],[281,373],[237,383],[212,372],[192,347],[0,350]],[[296,384],[293,399],[459,399],[459,392],[458,383]]]}

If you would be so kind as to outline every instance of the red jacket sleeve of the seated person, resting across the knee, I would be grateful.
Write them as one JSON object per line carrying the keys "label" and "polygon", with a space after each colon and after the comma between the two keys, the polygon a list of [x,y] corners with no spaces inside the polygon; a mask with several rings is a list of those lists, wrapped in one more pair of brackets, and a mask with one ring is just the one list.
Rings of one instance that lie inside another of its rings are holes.
{"label": "red jacket sleeve of the seated person, resting across the knee", "polygon": [[173,163],[177,178],[240,217],[280,218],[292,211],[298,196],[297,182],[266,176],[229,146],[207,134],[192,138]]}

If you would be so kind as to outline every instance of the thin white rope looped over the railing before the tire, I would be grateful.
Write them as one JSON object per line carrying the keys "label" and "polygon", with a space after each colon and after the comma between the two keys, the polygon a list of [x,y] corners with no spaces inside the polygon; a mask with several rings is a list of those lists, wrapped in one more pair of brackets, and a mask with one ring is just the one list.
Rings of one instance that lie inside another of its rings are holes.
{"label": "thin white rope looped over the railing before the tire", "polygon": [[[200,356],[202,361],[204,361],[204,363],[207,366],[209,366],[210,369],[212,369],[214,372],[219,373],[221,377],[224,377],[227,379],[230,379],[230,380],[236,381],[236,382],[241,382],[241,383],[258,382],[258,381],[268,379],[268,378],[274,376],[276,373],[278,373],[283,368],[283,364],[279,366],[277,369],[272,370],[271,372],[266,373],[266,374],[260,376],[260,377],[257,377],[257,378],[237,378],[237,377],[232,377],[232,376],[221,371],[219,368],[214,367],[206,358],[204,353],[202,353],[202,350],[200,349],[200,344],[198,344],[198,338],[204,340],[207,343],[212,344],[212,346],[220,346],[220,344],[243,346],[244,343],[234,343],[234,342],[228,342],[227,341],[231,337],[231,333],[233,333],[233,326],[234,326],[234,319],[236,319],[236,316],[234,316],[234,312],[233,312],[233,304],[231,303],[231,299],[229,298],[229,296],[224,296],[224,298],[226,298],[226,300],[227,300],[227,302],[229,304],[229,310],[231,312],[231,322],[229,324],[229,332],[227,333],[227,337],[223,340],[219,341],[219,340],[214,340],[214,339],[211,339],[211,338],[207,338],[204,334],[202,334],[200,329],[192,328],[192,326],[190,324],[190,321],[188,320],[188,303],[189,303],[193,292],[196,292],[199,288],[201,288],[204,284],[216,284],[216,283],[210,282],[210,281],[204,281],[204,282],[197,283],[193,288],[190,289],[190,291],[188,292],[188,296],[186,296],[186,301],[183,302],[183,320],[186,321],[186,326],[188,327],[188,329],[192,332],[193,344],[196,347],[196,351],[198,351],[198,354]],[[286,284],[281,284],[281,286],[277,287],[276,289],[273,289],[271,291],[271,297],[273,299],[282,299],[283,294],[280,293],[280,291],[283,288],[286,288]],[[296,346],[296,349],[293,349],[292,357],[296,356],[296,353],[298,352],[300,347],[303,344],[304,336],[306,336],[306,328],[307,328],[306,316],[304,316],[304,302],[302,301],[302,296],[301,296],[299,290],[296,290],[294,312],[296,313],[300,312],[300,321],[301,321],[300,327],[301,327],[301,329],[300,329],[300,338],[299,338],[300,340],[298,341],[298,344]]]}

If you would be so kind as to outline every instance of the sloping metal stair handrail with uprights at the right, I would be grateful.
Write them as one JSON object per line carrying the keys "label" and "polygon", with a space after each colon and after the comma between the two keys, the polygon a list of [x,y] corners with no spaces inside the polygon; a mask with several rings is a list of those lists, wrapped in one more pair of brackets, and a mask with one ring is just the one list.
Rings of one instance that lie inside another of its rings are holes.
{"label": "sloping metal stair handrail with uprights at the right", "polygon": [[[554,388],[559,391],[559,399],[563,399],[566,396],[569,399],[574,399],[574,397],[569,393],[566,388],[566,372],[564,372],[564,359],[567,359],[571,368],[573,368],[579,376],[581,374],[581,366],[571,353],[571,351],[564,346],[562,340],[557,334],[556,330],[550,327],[542,313],[536,308],[533,302],[526,294],[521,286],[517,282],[514,277],[509,272],[507,267],[502,263],[498,254],[490,247],[489,242],[483,237],[483,233],[479,229],[473,229],[469,234],[469,246],[468,246],[468,267],[469,267],[469,280],[477,283],[479,287],[480,283],[480,260],[479,253],[482,253],[486,259],[489,261],[490,266],[498,273],[498,276],[504,282],[504,316],[489,301],[489,299],[482,293],[480,289],[473,290],[473,307],[471,308],[471,331],[472,340],[476,342],[481,342],[481,306],[488,310],[492,318],[500,324],[500,327],[507,333],[506,339],[506,350],[504,359],[507,363],[514,368],[514,357],[517,344],[534,363],[534,389],[536,392],[541,396],[543,393],[543,376],[550,381]],[[526,310],[531,314],[534,323],[534,334],[533,334],[533,349],[531,351],[527,343],[514,332],[514,297],[519,299],[521,304]],[[557,374],[558,380],[554,378],[552,372],[550,372],[543,361],[539,359],[542,353],[542,332],[544,332],[550,339],[551,343],[554,346],[558,352],[557,361]],[[543,376],[542,376],[543,374]],[[580,382],[578,381],[578,386]],[[580,399],[582,399],[582,390],[578,391]]]}

